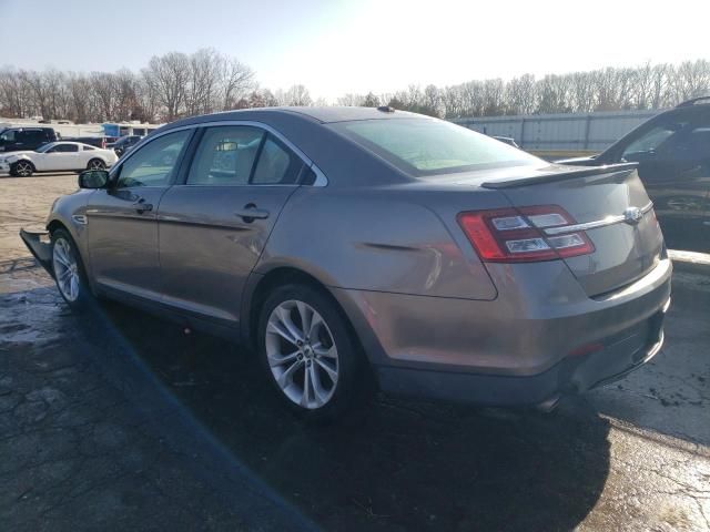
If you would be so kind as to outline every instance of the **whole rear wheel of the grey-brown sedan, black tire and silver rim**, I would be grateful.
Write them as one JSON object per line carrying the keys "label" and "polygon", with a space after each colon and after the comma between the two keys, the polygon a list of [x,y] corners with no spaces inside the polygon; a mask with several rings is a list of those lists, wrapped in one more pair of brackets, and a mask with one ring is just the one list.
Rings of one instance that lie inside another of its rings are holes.
{"label": "whole rear wheel of the grey-brown sedan, black tire and silver rim", "polygon": [[[306,334],[304,313],[313,324]],[[333,421],[362,398],[365,359],[347,319],[328,295],[307,285],[277,287],[261,308],[256,334],[266,378],[281,401],[300,417]]]}

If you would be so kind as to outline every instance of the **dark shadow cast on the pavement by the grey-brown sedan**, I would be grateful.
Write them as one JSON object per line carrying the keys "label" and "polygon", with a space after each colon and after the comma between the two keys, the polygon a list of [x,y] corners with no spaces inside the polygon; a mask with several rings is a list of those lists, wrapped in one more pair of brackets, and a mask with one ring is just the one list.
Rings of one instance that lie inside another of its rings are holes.
{"label": "dark shadow cast on the pavement by the grey-brown sedan", "polygon": [[118,304],[82,320],[165,438],[210,448],[212,470],[239,463],[324,530],[571,530],[608,475],[609,422],[582,399],[542,415],[376,395],[314,427],[284,410],[246,349]]}

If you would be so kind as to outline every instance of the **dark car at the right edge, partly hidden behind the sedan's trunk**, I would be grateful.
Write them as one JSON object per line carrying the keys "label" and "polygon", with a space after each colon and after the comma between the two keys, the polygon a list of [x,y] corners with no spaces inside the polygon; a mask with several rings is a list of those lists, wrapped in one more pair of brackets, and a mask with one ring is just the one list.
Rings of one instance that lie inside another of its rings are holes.
{"label": "dark car at the right edge, partly hidden behind the sedan's trunk", "polygon": [[671,248],[710,252],[710,96],[662,112],[599,155],[558,161],[635,162]]}

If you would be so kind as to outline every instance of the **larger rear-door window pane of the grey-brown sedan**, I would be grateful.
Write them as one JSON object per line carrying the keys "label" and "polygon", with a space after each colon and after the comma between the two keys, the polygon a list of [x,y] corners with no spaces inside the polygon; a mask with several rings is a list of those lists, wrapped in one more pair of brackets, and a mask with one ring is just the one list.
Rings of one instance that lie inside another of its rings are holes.
{"label": "larger rear-door window pane of the grey-brown sedan", "polygon": [[246,185],[264,132],[245,125],[209,127],[195,153],[189,185]]}

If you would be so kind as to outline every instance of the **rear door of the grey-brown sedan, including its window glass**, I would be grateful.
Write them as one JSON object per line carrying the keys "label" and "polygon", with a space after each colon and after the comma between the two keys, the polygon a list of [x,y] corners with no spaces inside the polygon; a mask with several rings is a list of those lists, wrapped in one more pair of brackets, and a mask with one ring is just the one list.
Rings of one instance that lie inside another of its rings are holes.
{"label": "rear door of the grey-brown sedan, including its window glass", "polygon": [[160,205],[164,300],[237,323],[246,278],[303,167],[260,127],[205,129],[184,183],[171,187]]}

